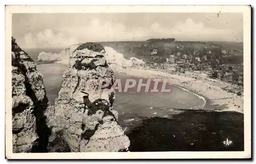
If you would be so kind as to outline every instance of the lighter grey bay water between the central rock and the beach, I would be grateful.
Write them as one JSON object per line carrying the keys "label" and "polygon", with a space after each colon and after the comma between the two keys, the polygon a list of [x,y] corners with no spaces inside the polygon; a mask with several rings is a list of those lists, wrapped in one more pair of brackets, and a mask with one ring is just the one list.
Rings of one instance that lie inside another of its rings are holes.
{"label": "lighter grey bay water between the central rock and the beach", "polygon": [[[138,81],[136,77],[116,75],[117,79],[125,81],[132,78]],[[146,80],[144,80],[146,82]],[[144,83],[144,82],[143,82]],[[136,92],[137,88],[127,92],[116,92],[114,108],[119,113],[120,122],[131,120],[137,116],[154,117],[165,116],[169,118],[173,113],[177,113],[176,108],[199,108],[204,104],[194,94],[184,91],[173,85],[166,85],[165,89],[170,92]],[[160,89],[159,89],[160,90]]]}

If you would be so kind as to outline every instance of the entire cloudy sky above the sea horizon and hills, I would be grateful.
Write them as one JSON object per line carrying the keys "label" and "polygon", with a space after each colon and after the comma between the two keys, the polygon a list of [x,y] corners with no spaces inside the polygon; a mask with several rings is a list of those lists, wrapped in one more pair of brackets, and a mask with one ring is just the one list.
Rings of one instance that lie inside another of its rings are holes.
{"label": "entire cloudy sky above the sea horizon and hills", "polygon": [[22,48],[66,48],[96,41],[243,42],[242,13],[15,13],[12,36]]}

